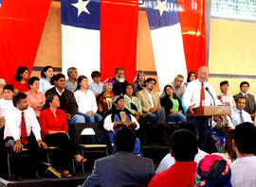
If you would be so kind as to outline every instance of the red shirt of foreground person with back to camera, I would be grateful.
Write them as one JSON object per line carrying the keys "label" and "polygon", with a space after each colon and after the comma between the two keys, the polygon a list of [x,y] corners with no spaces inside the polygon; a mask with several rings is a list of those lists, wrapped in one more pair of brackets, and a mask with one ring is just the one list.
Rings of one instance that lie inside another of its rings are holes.
{"label": "red shirt of foreground person with back to camera", "polygon": [[155,175],[148,187],[193,187],[196,176],[196,162],[177,161],[168,170]]}

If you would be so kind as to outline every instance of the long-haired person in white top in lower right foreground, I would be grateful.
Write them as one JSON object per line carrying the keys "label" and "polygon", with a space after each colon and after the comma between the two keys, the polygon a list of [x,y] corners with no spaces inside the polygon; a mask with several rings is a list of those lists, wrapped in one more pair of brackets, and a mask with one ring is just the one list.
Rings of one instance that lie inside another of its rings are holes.
{"label": "long-haired person in white top in lower right foreground", "polygon": [[236,160],[236,154],[234,152],[234,148],[232,145],[233,136],[234,136],[234,129],[229,129],[226,134],[226,138],[225,138],[225,142],[224,142],[224,150],[219,153],[214,153],[214,154],[222,156],[229,163]]}

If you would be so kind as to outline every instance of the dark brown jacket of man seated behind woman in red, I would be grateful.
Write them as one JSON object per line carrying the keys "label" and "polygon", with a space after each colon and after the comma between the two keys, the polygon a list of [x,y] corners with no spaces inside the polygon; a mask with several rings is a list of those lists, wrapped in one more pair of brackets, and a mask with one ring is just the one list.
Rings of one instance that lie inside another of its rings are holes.
{"label": "dark brown jacket of man seated behind woman in red", "polygon": [[78,104],[74,93],[71,93],[70,91],[64,89],[64,93],[60,95],[59,93],[57,93],[56,88],[53,87],[46,92],[46,96],[49,94],[58,95],[61,102],[61,106],[59,109],[64,110],[65,113],[69,113],[71,116],[73,116],[78,112]]}

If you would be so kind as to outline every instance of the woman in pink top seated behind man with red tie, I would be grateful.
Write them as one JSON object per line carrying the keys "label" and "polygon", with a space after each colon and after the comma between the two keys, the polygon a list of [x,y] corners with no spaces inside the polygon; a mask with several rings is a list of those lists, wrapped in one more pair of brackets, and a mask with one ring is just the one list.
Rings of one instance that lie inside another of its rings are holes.
{"label": "woman in pink top seated behind man with red tie", "polygon": [[27,103],[28,106],[31,107],[36,116],[40,116],[40,110],[44,107],[46,103],[46,96],[42,92],[38,92],[39,89],[39,77],[32,76],[27,81],[28,91],[27,94]]}

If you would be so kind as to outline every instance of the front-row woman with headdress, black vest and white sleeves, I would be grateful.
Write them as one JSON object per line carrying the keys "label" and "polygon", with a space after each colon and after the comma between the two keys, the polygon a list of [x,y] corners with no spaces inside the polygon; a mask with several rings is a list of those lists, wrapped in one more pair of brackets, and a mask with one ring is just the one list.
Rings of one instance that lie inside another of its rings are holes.
{"label": "front-row woman with headdress, black vest and white sleeves", "polygon": [[[117,130],[120,126],[132,127],[136,130],[139,128],[139,124],[137,123],[135,116],[129,110],[124,108],[124,97],[122,95],[117,95],[113,99],[112,109],[105,114],[103,121],[103,127],[109,132],[110,142],[114,150],[114,130]],[[138,139],[134,153],[140,153],[140,142]]]}

